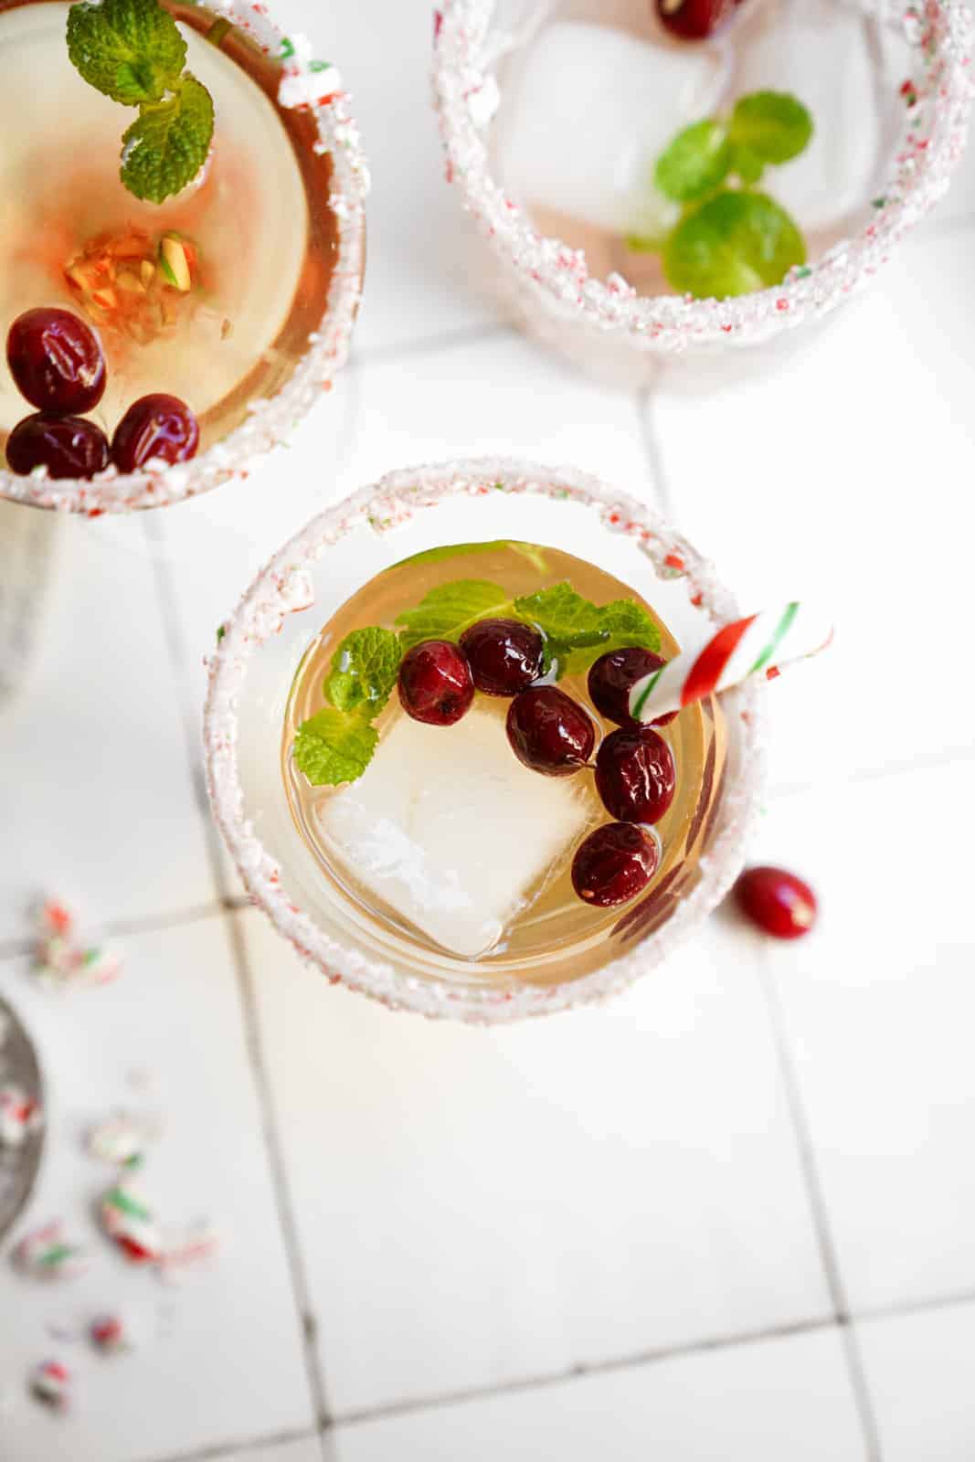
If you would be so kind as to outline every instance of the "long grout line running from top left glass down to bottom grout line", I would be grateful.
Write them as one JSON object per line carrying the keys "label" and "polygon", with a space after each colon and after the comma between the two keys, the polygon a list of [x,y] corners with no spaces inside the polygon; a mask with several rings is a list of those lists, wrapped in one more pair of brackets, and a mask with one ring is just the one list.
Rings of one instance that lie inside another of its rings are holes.
{"label": "long grout line running from top left glass down to bottom grout line", "polygon": [[[149,523],[146,523],[146,535],[149,537],[151,542],[161,545],[162,542],[161,529],[158,529],[155,525],[151,526]],[[263,1058],[263,1050],[260,1042],[260,1023],[257,1018],[257,1003],[254,999],[251,971],[250,971],[250,963],[247,961],[247,950],[244,947],[243,930],[240,927],[240,921],[237,917],[238,911],[235,908],[231,908],[231,898],[224,882],[224,870],[219,857],[219,841],[218,841],[219,835],[216,832],[216,825],[209,813],[209,798],[206,795],[203,760],[199,751],[199,740],[193,732],[191,696],[186,674],[186,667],[189,664],[186,658],[187,646],[178,629],[177,601],[175,601],[172,580],[170,576],[170,563],[168,558],[165,557],[165,553],[153,553],[152,558],[153,558],[153,572],[156,576],[156,589],[165,624],[167,645],[170,649],[170,659],[172,665],[172,675],[175,680],[177,696],[181,708],[186,751],[197,798],[197,811],[203,820],[205,844],[210,863],[210,876],[221,896],[221,912],[224,915],[227,936],[231,947],[231,956],[234,961],[234,971],[237,975],[237,991],[241,1004],[241,1018],[244,1022],[247,1064],[250,1067],[251,1080],[254,1083],[254,1092],[257,1095],[265,1152],[268,1156],[268,1167],[270,1171],[270,1181],[275,1194],[275,1206],[278,1209],[281,1237],[284,1241],[285,1257],[291,1275],[291,1288],[295,1303],[297,1319],[300,1323],[301,1348],[306,1363],[308,1392],[311,1396],[311,1404],[314,1406],[316,1430],[323,1431],[323,1428],[329,1425],[329,1411],[326,1405],[325,1382],[322,1379],[322,1367],[319,1364],[319,1355],[316,1347],[316,1320],[310,1306],[307,1276],[304,1270],[304,1262],[301,1257],[301,1247],[298,1244],[298,1235],[294,1221],[294,1209],[291,1203],[291,1193],[288,1189],[284,1155],[281,1151],[281,1142],[278,1136],[278,1123],[270,1095],[270,1080]]]}

